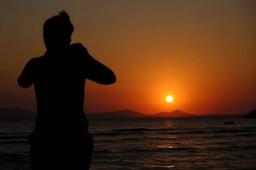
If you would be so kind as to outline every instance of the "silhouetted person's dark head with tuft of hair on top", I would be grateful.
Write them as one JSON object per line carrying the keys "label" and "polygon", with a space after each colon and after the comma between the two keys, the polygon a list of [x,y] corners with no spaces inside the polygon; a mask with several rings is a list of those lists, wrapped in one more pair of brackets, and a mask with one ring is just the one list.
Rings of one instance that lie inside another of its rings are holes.
{"label": "silhouetted person's dark head with tuft of hair on top", "polygon": [[47,49],[70,45],[74,26],[66,11],[59,12],[44,23],[44,44]]}

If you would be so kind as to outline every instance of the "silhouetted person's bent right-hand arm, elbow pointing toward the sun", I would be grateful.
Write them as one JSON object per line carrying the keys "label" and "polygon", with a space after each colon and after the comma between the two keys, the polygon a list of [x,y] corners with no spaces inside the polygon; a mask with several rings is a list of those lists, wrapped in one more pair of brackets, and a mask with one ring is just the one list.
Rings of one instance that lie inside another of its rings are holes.
{"label": "silhouetted person's bent right-hand arm, elbow pointing toward the sun", "polygon": [[110,68],[91,57],[82,44],[76,43],[73,45],[76,46],[77,49],[80,48],[83,55],[85,78],[102,85],[111,85],[116,82],[116,76]]}

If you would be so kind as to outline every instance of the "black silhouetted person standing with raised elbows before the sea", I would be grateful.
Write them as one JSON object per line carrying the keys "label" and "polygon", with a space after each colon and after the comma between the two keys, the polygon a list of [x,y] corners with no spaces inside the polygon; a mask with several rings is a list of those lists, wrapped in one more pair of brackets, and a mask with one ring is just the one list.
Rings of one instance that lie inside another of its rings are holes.
{"label": "black silhouetted person standing with raised elbows before the sea", "polygon": [[34,84],[37,99],[29,138],[32,170],[89,169],[93,139],[83,109],[85,79],[116,82],[114,73],[83,45],[70,45],[73,30],[65,11],[49,18],[44,23],[46,53],[30,59],[18,78],[23,88]]}

